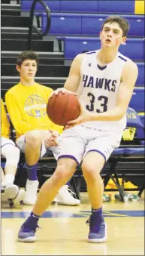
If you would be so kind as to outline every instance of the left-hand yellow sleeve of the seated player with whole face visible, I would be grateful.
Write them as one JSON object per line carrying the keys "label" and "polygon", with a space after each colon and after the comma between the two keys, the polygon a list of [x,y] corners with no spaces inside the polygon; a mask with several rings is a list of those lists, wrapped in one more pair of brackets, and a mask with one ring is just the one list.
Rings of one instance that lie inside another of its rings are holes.
{"label": "left-hand yellow sleeve of the seated player with whole face visible", "polygon": [[31,131],[32,125],[29,125],[27,122],[23,121],[23,118],[20,114],[19,103],[16,102],[14,95],[7,93],[5,95],[5,102],[15,130],[19,134],[26,134],[27,131]]}

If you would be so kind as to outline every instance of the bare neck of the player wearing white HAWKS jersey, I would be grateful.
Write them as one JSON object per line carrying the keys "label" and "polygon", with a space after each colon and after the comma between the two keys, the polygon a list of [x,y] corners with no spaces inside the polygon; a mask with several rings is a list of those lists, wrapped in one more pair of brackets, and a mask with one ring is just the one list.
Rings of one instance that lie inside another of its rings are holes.
{"label": "bare neck of the player wearing white HAWKS jersey", "polygon": [[117,52],[118,50],[114,51],[114,49],[110,49],[110,51],[108,51],[108,48],[101,48],[100,51],[98,51],[97,59],[101,65],[106,65],[116,58]]}

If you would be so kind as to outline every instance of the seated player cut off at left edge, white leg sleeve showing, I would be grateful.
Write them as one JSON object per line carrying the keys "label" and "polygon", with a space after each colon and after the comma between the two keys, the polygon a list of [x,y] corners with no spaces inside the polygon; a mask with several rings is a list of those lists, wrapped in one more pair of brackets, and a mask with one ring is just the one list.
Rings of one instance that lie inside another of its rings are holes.
{"label": "seated player cut off at left edge, white leg sleeve showing", "polygon": [[20,160],[20,150],[16,147],[13,140],[10,140],[10,123],[5,112],[5,106],[1,99],[2,113],[2,138],[1,138],[1,155],[5,157],[5,171],[2,172],[2,190],[5,190],[6,199],[14,199],[14,205],[22,201],[25,197],[25,191],[19,190],[17,185],[14,185],[14,178],[17,172],[17,165]]}

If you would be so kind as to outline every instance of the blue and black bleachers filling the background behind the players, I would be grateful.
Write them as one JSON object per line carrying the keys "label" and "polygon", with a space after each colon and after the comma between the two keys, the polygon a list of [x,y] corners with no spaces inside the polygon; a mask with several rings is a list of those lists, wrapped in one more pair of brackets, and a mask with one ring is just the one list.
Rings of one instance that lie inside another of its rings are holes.
{"label": "blue and black bleachers filling the background behind the players", "polygon": [[[28,17],[33,1],[21,0],[18,10],[20,11],[20,19]],[[83,51],[94,51],[100,48],[100,39],[98,38],[101,30],[101,23],[110,14],[119,14],[126,17],[131,25],[128,33],[127,42],[121,45],[119,51],[125,56],[130,57],[137,63],[139,75],[134,88],[128,109],[128,126],[137,128],[133,141],[123,141],[119,149],[114,150],[109,161],[101,172],[104,177],[104,187],[110,178],[113,179],[116,187],[119,189],[123,201],[123,187],[119,184],[118,177],[123,180],[137,180],[144,177],[144,16],[140,14],[140,7],[134,0],[124,1],[44,1],[51,11],[51,26],[47,35],[48,41],[38,39],[37,48],[32,46],[32,50],[40,53],[40,66],[36,81],[41,84],[49,85],[53,89],[62,87],[66,77],[68,76],[70,64],[66,65],[65,60],[74,59],[74,57]],[[18,5],[17,5],[18,6]],[[6,10],[6,9],[5,9]],[[44,32],[46,28],[46,14],[40,3],[35,6],[35,25]],[[14,20],[14,17],[13,17]],[[2,21],[3,22],[3,21]],[[2,25],[3,26],[3,25]],[[25,25],[26,26],[26,25]],[[27,29],[27,30],[25,30]],[[23,30],[28,31],[26,26]],[[13,29],[12,29],[13,30]],[[7,31],[9,33],[10,30]],[[19,30],[18,30],[19,31]],[[14,31],[17,35],[17,32]],[[25,34],[26,35],[26,34]],[[3,33],[2,33],[3,36]],[[22,36],[22,35],[21,35]],[[33,33],[33,36],[36,36]],[[19,38],[22,41],[22,39]],[[51,41],[53,43],[51,44]],[[45,45],[41,45],[42,43]],[[47,42],[50,45],[50,49]],[[58,45],[57,45],[58,43]],[[40,45],[40,48],[39,48]],[[4,47],[5,46],[5,47]],[[2,97],[4,99],[5,92],[19,81],[17,72],[14,69],[14,57],[17,56],[16,50],[8,46],[8,51],[4,51],[7,45],[2,46]],[[40,50],[39,50],[40,49]],[[43,51],[44,49],[44,51]],[[14,52],[13,52],[14,51]],[[20,50],[20,46],[17,51]],[[23,50],[22,50],[23,51]],[[47,53],[48,51],[48,53]],[[50,54],[51,51],[51,54]],[[10,55],[11,54],[11,55]],[[9,60],[7,59],[9,57]],[[6,61],[7,60],[7,61]],[[59,63],[60,61],[60,63]],[[53,65],[52,65],[53,63]],[[11,82],[12,81],[12,82]],[[38,179],[41,184],[44,183],[53,173],[56,162],[51,153],[45,156],[38,163]],[[24,169],[20,172],[19,168]],[[23,155],[20,159],[16,184],[25,185],[25,160]],[[81,183],[80,183],[81,180]],[[72,180],[73,187],[79,197],[79,191],[86,190],[84,180],[80,171],[80,167],[74,174]],[[77,186],[76,186],[77,184]],[[141,195],[144,184],[140,183],[137,190]]]}

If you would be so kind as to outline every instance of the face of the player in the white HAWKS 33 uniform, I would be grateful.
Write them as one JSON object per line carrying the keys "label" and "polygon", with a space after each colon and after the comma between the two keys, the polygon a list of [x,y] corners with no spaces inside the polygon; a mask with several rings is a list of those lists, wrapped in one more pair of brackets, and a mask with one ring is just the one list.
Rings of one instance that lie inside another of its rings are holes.
{"label": "face of the player in the white HAWKS 33 uniform", "polygon": [[101,46],[105,48],[119,48],[126,37],[122,36],[122,29],[118,23],[106,23],[100,33]]}

